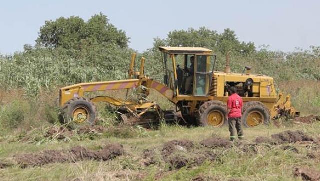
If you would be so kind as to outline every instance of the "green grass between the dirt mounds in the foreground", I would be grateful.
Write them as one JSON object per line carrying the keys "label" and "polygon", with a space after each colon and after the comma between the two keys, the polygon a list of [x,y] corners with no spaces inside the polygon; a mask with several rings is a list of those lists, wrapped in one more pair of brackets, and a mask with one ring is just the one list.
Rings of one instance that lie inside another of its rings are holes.
{"label": "green grass between the dirt mounds in the foreground", "polygon": [[[257,136],[270,136],[284,130],[303,130],[312,135],[320,135],[320,123],[311,125],[294,125],[288,127],[244,128],[246,141],[252,141]],[[134,180],[143,176],[145,180],[153,180],[161,175],[164,180],[190,180],[197,176],[208,179],[231,179],[243,180],[292,180],[293,169],[296,166],[306,166],[320,170],[319,161],[306,159],[306,152],[310,151],[305,145],[296,146],[300,153],[283,151],[278,146],[270,149],[258,147],[258,153],[242,153],[238,148],[221,150],[222,156],[219,161],[206,162],[192,168],[169,170],[168,166],[161,161],[160,151],[163,143],[174,139],[189,139],[195,143],[211,137],[220,136],[228,138],[228,130],[223,128],[181,126],[162,126],[159,130],[147,131],[145,137],[117,138],[102,137],[92,141],[49,142],[36,145],[21,142],[1,142],[0,159],[21,153],[39,152],[47,149],[68,149],[76,145],[96,149],[106,143],[120,143],[124,146],[126,154],[110,161],[82,161],[77,163],[55,163],[42,167],[19,168],[18,166],[0,169],[1,180],[65,180],[80,178],[81,180],[104,179],[104,180]],[[146,148],[155,148],[157,159],[155,165],[141,165],[141,154]],[[45,174],[43,174],[45,173]]]}

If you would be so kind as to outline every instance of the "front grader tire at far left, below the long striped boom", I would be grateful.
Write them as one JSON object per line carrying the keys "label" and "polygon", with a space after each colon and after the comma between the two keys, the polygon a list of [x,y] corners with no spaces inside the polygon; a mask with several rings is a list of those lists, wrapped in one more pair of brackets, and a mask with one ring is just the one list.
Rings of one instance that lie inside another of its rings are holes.
{"label": "front grader tire at far left, below the long striped boom", "polygon": [[93,125],[97,120],[95,105],[84,97],[74,97],[67,101],[62,108],[62,123],[68,123],[70,128],[80,128]]}

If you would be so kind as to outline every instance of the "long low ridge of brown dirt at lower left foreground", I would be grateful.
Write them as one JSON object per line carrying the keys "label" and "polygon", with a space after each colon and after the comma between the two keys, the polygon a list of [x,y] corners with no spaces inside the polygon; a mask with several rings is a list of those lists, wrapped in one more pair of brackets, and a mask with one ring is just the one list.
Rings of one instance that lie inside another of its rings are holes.
{"label": "long low ridge of brown dirt at lower left foreground", "polygon": [[109,160],[124,153],[120,144],[109,144],[98,151],[87,150],[84,147],[73,147],[70,150],[45,150],[40,153],[21,154],[14,160],[21,167],[41,166],[50,163],[76,162],[80,160]]}

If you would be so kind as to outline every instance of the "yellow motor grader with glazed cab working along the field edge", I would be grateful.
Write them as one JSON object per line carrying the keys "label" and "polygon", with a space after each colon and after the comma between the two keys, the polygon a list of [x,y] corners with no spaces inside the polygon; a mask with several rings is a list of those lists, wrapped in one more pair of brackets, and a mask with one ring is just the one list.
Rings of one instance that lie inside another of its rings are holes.
{"label": "yellow motor grader with glazed cab working along the field edge", "polygon": [[[162,52],[164,83],[144,74],[145,59],[140,69],[134,69],[133,53],[128,79],[79,83],[60,89],[61,117],[76,127],[94,124],[97,111],[94,103],[106,102],[116,107],[119,117],[130,124],[148,124],[160,120],[174,121],[177,112],[190,124],[220,127],[227,122],[226,101],[229,87],[235,86],[242,97],[244,126],[268,124],[277,116],[298,116],[291,106],[290,95],[277,95],[272,77],[251,74],[251,67],[243,73],[233,73],[229,66],[229,52],[224,71],[214,71],[216,55],[202,47],[159,47]],[[143,88],[141,88],[143,87]],[[140,89],[136,100],[109,96],[86,98],[86,92]],[[174,103],[176,110],[163,111],[154,101],[146,98],[150,90],[156,90],[163,98]]]}

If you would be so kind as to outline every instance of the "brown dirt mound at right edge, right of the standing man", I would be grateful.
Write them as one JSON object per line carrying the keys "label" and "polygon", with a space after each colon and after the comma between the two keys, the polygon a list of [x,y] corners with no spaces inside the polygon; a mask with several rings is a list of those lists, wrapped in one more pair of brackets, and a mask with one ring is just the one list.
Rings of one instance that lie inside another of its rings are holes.
{"label": "brown dirt mound at right edge, right of the standing man", "polygon": [[301,142],[301,141],[314,141],[314,139],[306,134],[304,134],[302,131],[284,131],[280,132],[278,134],[272,134],[271,135],[272,140],[276,142],[277,144],[282,143],[295,143],[295,142]]}

